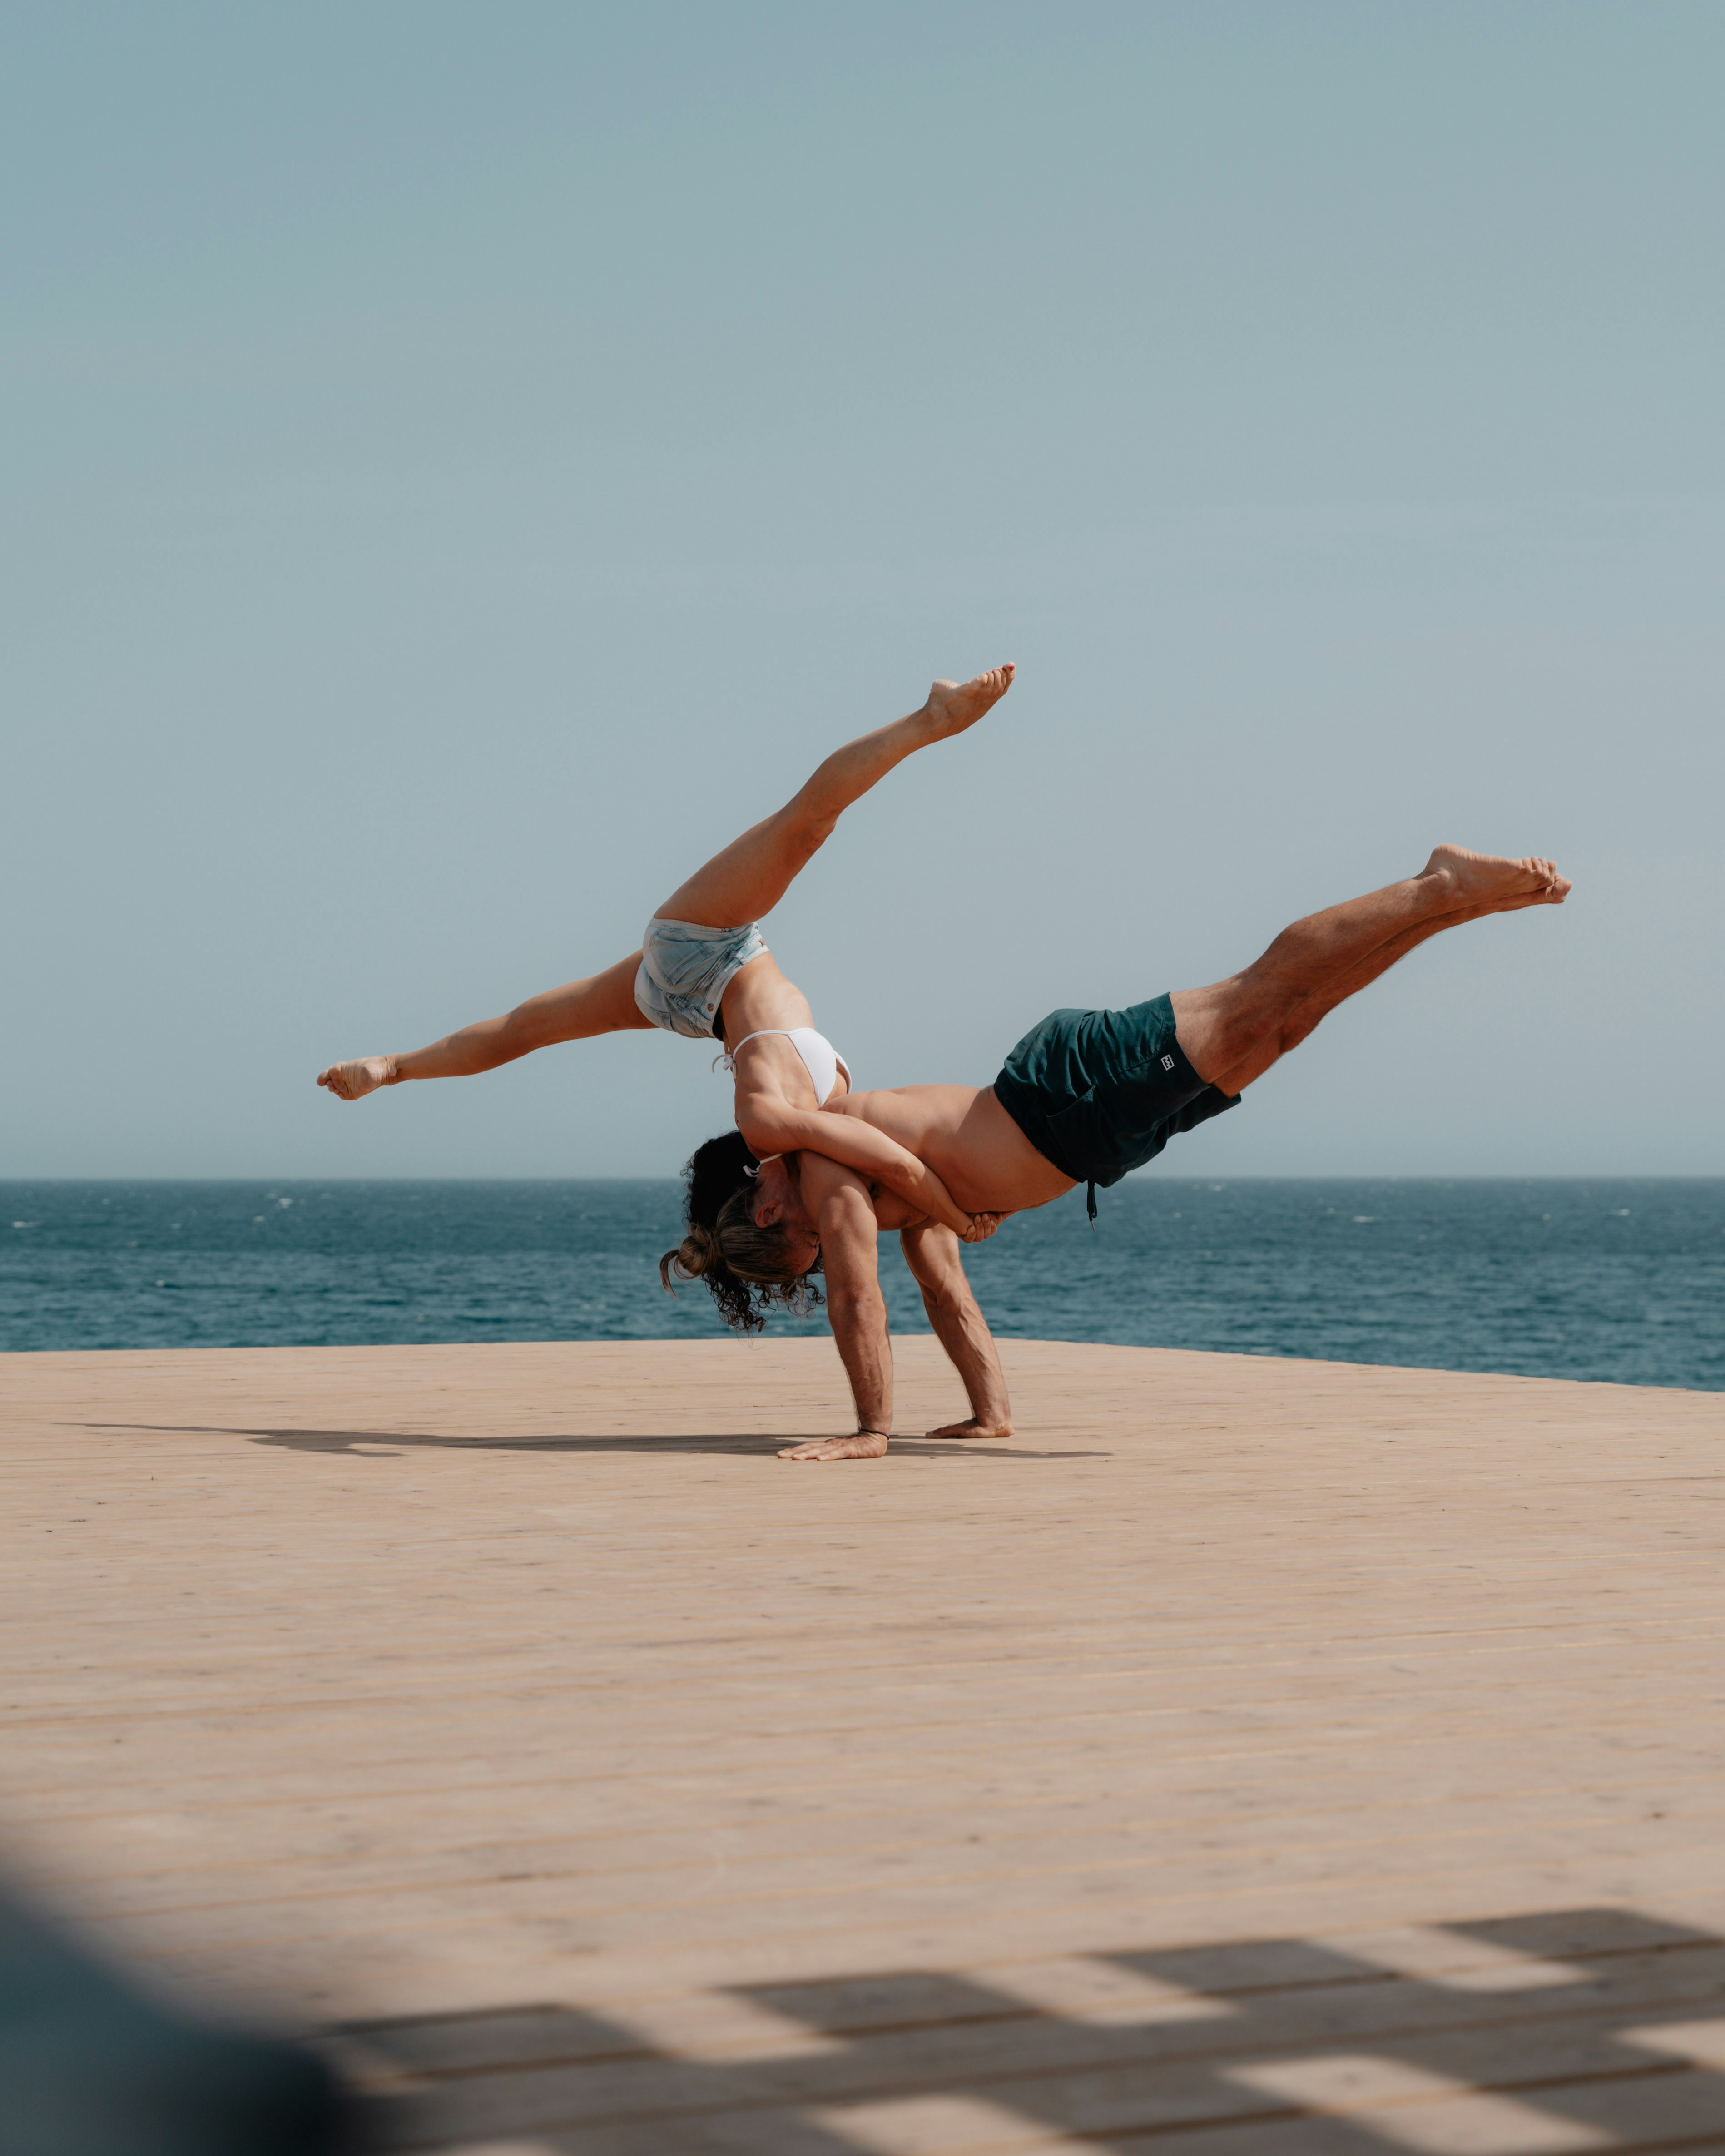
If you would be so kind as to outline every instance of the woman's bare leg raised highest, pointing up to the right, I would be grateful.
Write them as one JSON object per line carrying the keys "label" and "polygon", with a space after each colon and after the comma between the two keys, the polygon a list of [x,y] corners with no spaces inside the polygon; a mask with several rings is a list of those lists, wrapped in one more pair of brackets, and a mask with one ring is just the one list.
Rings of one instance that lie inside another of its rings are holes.
{"label": "woman's bare leg raised highest, pointing up to the right", "polygon": [[975,727],[1007,694],[1011,677],[1011,666],[994,666],[972,681],[936,681],[921,711],[834,750],[776,815],[733,839],[673,890],[660,918],[740,929],[772,912],[854,800],[919,748]]}

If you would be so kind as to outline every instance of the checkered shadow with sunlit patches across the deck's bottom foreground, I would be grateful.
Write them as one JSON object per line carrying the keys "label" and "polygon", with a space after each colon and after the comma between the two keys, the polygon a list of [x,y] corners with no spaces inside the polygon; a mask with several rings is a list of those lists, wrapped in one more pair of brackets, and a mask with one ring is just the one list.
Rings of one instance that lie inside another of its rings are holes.
{"label": "checkered shadow with sunlit patches across the deck's bottom foreground", "polygon": [[[1434,1932],[1421,1936],[1430,1953]],[[1451,1923],[1436,1940],[1421,1975],[1307,1938],[1065,1962],[1074,1996],[1085,1981],[1108,1994],[1089,2016],[1026,2003],[1009,1973],[742,1986],[729,2029],[727,1994],[707,2003],[705,2057],[556,2003],[341,2035],[386,2147],[1725,2147],[1725,1938],[1570,1908]]]}

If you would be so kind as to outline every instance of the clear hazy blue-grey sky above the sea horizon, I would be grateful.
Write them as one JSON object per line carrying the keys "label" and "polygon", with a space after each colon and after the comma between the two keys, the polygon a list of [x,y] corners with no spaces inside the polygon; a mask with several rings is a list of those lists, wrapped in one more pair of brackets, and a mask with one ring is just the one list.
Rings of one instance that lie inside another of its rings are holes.
{"label": "clear hazy blue-grey sky above the sea horizon", "polygon": [[862,1084],[1440,938],[1169,1173],[1725,1173],[1716,0],[0,28],[9,1175],[673,1173],[699,1046],[358,1108],[936,673],[768,925]]}

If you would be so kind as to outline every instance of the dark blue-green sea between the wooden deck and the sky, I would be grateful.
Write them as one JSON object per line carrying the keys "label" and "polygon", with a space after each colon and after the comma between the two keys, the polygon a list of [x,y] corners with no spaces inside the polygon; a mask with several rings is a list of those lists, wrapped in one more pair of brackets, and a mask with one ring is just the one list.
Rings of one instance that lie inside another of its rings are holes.
{"label": "dark blue-green sea between the wooden deck and the sky", "polygon": [[[4,1181],[0,1350],[703,1339],[675,1181]],[[966,1250],[1003,1337],[1725,1391],[1725,1179],[1136,1175]],[[927,1332],[882,1242],[897,1332]],[[822,1319],[776,1317],[804,1335]]]}

